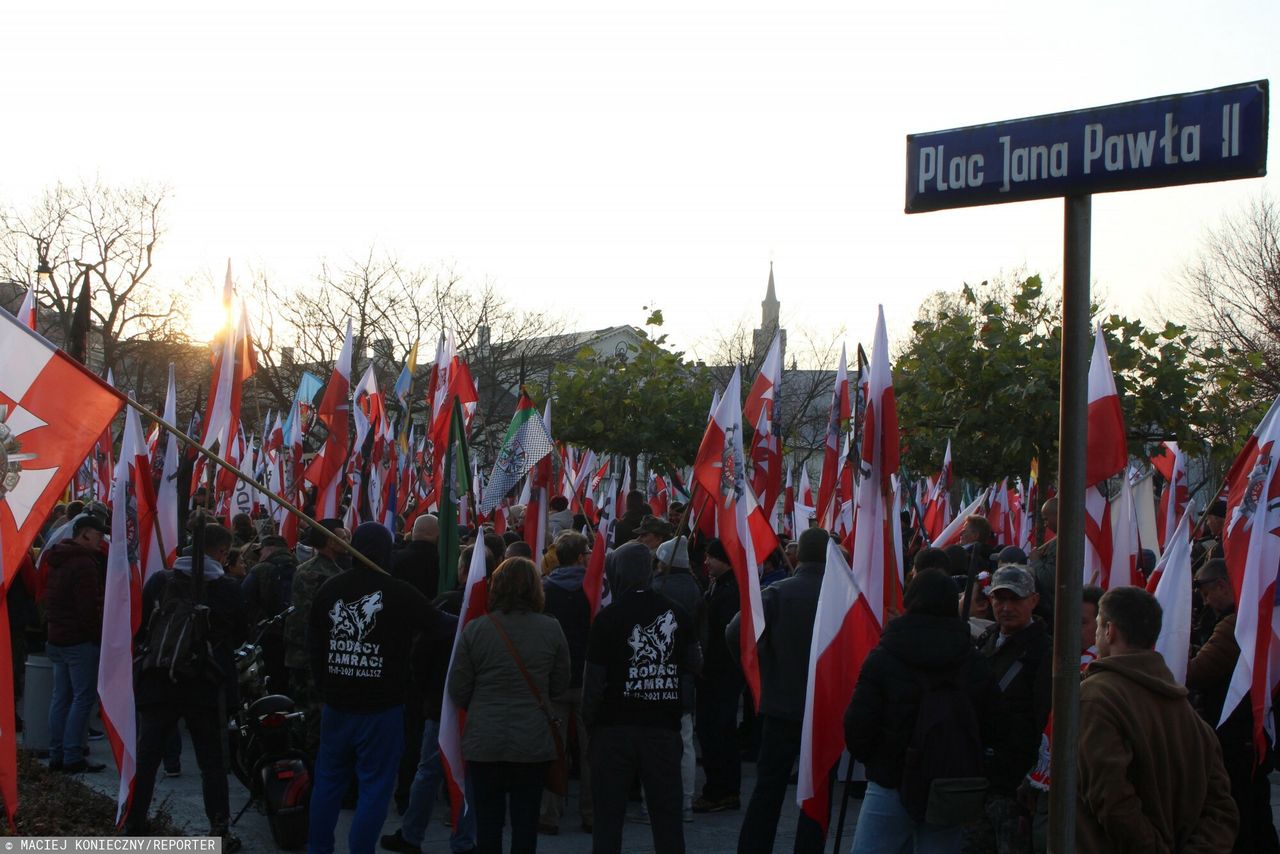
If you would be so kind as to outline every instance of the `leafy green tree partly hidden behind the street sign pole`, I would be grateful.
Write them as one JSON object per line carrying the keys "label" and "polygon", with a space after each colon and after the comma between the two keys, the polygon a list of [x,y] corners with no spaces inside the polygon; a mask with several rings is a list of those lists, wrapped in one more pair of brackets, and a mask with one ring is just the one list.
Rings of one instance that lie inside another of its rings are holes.
{"label": "leafy green tree partly hidden behind the street sign pole", "polygon": [[[1132,455],[1164,439],[1196,453],[1233,431],[1221,411],[1228,391],[1184,326],[1100,318],[1098,306],[1092,314],[1107,338]],[[893,366],[908,467],[932,472],[951,439],[960,478],[1024,475],[1039,457],[1052,480],[1060,353],[1061,300],[1038,275],[931,297]]]}

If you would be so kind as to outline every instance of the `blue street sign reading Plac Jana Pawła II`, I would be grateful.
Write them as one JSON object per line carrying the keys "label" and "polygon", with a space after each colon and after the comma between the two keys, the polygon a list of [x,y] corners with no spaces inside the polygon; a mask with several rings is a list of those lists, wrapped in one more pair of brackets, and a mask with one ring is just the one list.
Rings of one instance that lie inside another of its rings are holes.
{"label": "blue street sign reading Plac Jana Paw\u0142a II", "polygon": [[1268,81],[906,137],[906,213],[1267,173]]}

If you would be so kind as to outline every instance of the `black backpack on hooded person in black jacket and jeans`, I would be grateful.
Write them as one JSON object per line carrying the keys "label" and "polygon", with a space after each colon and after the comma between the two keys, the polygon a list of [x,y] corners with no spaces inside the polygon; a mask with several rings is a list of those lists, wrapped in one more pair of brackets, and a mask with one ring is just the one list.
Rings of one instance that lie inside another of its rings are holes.
{"label": "black backpack on hooded person in black jacket and jeans", "polygon": [[899,798],[915,821],[952,827],[982,814],[987,793],[982,732],[969,697],[969,663],[945,676],[915,671],[920,705],[902,761]]}

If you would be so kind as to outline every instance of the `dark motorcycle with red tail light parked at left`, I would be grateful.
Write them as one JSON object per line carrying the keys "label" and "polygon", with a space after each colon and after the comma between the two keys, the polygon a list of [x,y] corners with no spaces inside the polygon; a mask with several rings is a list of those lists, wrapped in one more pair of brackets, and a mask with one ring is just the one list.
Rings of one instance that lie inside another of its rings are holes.
{"label": "dark motorcycle with red tail light parked at left", "polygon": [[257,636],[236,650],[241,705],[228,723],[232,773],[248,789],[251,805],[266,813],[275,844],[285,850],[307,842],[311,761],[301,749],[303,713],[284,694],[270,693],[262,661],[262,635],[284,622],[293,607],[257,624]]}

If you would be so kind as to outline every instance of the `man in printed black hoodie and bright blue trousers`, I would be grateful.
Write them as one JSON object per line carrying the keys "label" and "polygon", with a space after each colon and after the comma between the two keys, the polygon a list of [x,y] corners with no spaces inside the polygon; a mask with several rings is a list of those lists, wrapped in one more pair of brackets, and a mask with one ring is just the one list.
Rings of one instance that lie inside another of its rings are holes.
{"label": "man in printed black hoodie and bright blue trousers", "polygon": [[307,850],[334,850],[333,831],[351,776],[360,800],[348,850],[371,851],[387,819],[404,746],[404,695],[415,631],[433,632],[440,613],[411,585],[387,574],[392,534],[365,522],[352,547],[383,568],[357,561],[316,592],[307,624],[311,679],[324,703],[311,790]]}

